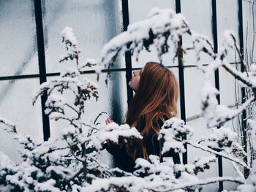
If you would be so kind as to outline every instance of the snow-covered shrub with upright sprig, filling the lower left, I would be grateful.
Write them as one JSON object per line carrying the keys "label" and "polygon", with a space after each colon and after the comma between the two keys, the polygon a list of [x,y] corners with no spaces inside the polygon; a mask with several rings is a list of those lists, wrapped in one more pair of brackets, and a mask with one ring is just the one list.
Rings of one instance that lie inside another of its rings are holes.
{"label": "snow-covered shrub with upright sprig, filling the lower left", "polygon": [[97,85],[86,78],[83,69],[96,62],[90,59],[80,64],[80,50],[72,28],[64,28],[61,37],[67,55],[60,62],[67,61],[75,67],[42,83],[34,102],[46,94],[45,112],[53,120],[67,121],[69,126],[62,128],[58,139],[37,142],[29,135],[19,134],[15,125],[0,118],[0,123],[23,146],[20,151],[23,162],[17,166],[0,153],[0,191],[80,191],[83,185],[97,178],[125,175],[120,169],[109,169],[99,163],[97,152],[105,142],[125,143],[141,138],[137,129],[128,125],[95,126],[83,122],[86,101],[99,97]]}

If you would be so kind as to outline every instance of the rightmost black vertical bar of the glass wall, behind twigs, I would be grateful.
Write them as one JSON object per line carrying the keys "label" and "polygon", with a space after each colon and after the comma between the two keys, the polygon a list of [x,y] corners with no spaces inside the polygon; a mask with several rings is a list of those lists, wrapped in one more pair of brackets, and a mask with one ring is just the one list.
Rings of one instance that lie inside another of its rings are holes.
{"label": "rightmost black vertical bar of the glass wall, behind twigs", "polygon": [[[240,43],[240,51],[242,58],[244,59],[244,31],[243,31],[243,1],[238,0],[238,31],[239,31],[239,43]],[[244,65],[241,65],[241,72],[244,72]],[[245,88],[241,88],[241,96],[242,96],[242,103],[245,101]],[[244,151],[247,153],[247,133],[246,133],[246,110],[243,111],[242,117],[241,117],[241,126],[243,130],[243,146]],[[247,156],[244,157],[244,162],[247,164]],[[249,170],[244,168],[244,177],[248,177]]]}

